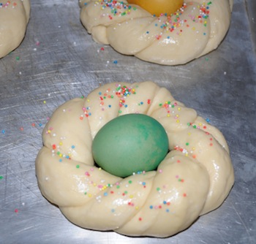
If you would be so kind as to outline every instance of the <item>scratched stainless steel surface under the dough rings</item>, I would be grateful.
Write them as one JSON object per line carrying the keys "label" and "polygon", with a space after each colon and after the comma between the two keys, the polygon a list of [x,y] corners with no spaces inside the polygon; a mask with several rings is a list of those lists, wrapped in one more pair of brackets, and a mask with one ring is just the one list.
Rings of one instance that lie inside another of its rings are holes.
{"label": "scratched stainless steel surface under the dough rings", "polygon": [[[80,23],[77,0],[32,0],[26,38],[0,60],[0,243],[255,243],[255,12],[255,0],[235,0],[222,45],[171,67],[101,50]],[[236,183],[219,209],[167,239],[81,229],[37,187],[42,128],[56,107],[102,83],[143,80],[165,86],[223,132]]]}

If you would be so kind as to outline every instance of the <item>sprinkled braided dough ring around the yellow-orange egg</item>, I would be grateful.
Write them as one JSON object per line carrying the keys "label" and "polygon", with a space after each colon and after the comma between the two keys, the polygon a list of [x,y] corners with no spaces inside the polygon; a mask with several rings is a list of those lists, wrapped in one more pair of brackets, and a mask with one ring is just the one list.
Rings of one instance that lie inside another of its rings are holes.
{"label": "sprinkled braided dough ring around the yellow-orange egg", "polygon": [[230,26],[233,0],[184,0],[170,16],[152,16],[127,1],[80,0],[80,20],[92,38],[144,61],[186,64],[218,47]]}

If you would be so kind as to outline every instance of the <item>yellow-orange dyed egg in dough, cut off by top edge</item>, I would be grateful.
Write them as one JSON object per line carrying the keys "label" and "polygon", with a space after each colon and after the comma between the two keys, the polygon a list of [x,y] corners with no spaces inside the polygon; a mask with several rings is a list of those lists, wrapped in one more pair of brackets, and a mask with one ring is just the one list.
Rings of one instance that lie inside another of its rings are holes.
{"label": "yellow-orange dyed egg in dough, cut off by top edge", "polygon": [[129,4],[136,4],[146,9],[152,15],[173,14],[182,7],[184,0],[127,0]]}

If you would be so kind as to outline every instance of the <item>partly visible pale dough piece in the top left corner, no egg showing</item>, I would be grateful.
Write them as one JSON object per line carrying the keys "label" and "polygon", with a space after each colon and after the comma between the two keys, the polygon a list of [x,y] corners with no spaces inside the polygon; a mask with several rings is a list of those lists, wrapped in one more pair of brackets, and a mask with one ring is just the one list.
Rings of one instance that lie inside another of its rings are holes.
{"label": "partly visible pale dough piece in the top left corner, no egg showing", "polygon": [[3,0],[0,3],[0,58],[20,45],[29,15],[30,0]]}

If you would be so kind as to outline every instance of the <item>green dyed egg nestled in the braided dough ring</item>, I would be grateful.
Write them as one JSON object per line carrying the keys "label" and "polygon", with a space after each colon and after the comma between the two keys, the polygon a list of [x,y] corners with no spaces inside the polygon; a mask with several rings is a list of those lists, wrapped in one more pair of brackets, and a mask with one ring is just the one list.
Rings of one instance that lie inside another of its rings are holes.
{"label": "green dyed egg nestled in the braided dough ring", "polygon": [[167,151],[165,129],[143,114],[114,118],[98,131],[92,143],[92,155],[99,167],[122,178],[157,169]]}

